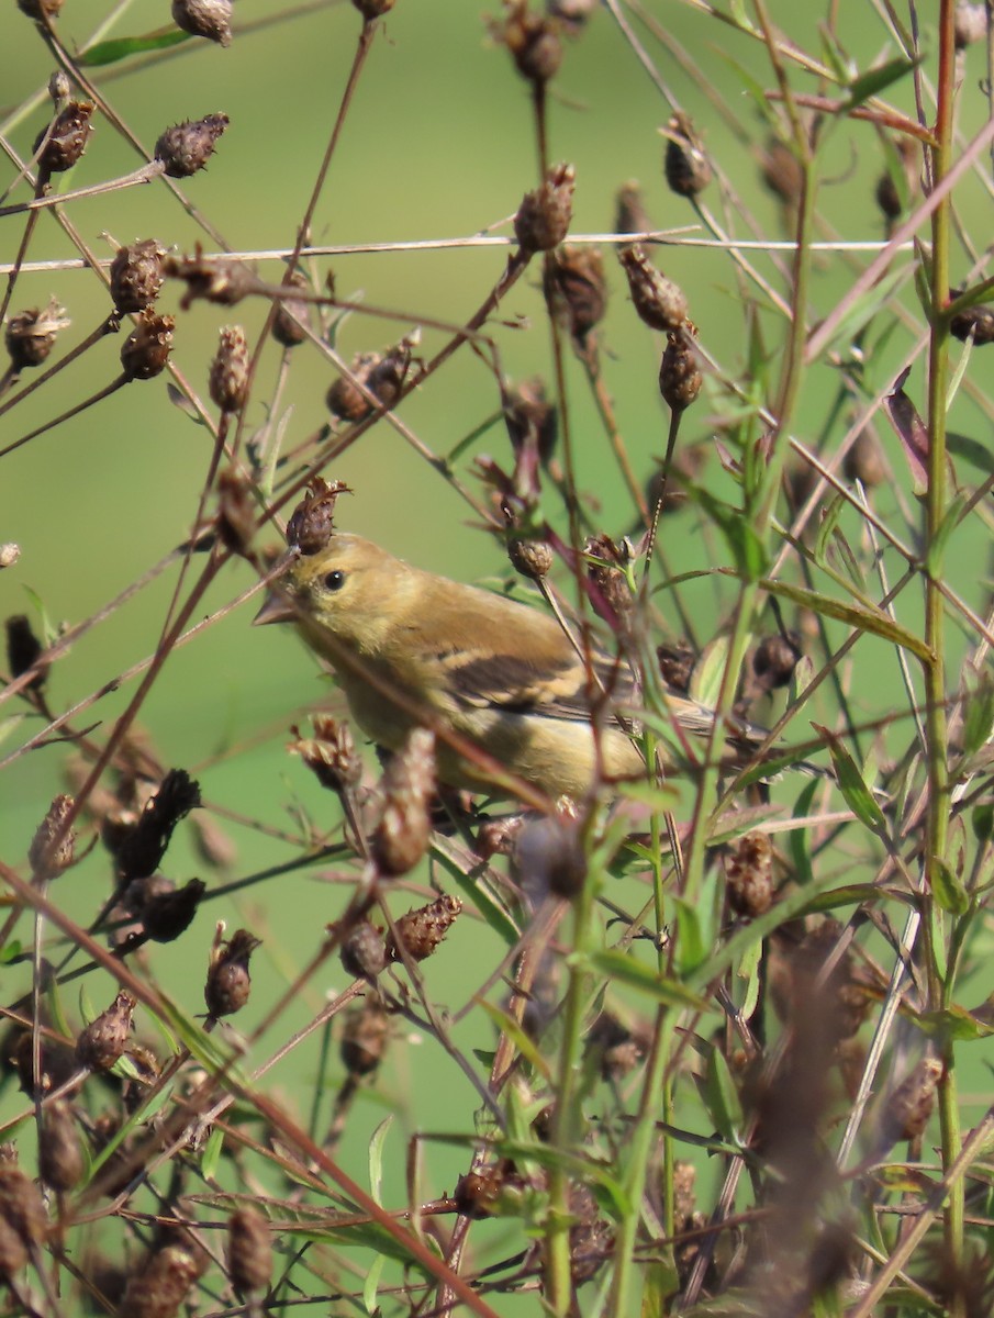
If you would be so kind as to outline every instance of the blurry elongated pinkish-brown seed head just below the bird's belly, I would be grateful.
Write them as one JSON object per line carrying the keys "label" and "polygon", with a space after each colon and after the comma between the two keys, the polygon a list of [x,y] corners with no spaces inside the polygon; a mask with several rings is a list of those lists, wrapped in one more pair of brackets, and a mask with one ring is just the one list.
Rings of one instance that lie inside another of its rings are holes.
{"label": "blurry elongated pinkish-brown seed head just below the bird's belly", "polygon": [[428,804],[435,791],[435,734],[415,728],[390,758],[382,778],[384,813],[372,840],[382,875],[407,874],[424,855],[431,837]]}

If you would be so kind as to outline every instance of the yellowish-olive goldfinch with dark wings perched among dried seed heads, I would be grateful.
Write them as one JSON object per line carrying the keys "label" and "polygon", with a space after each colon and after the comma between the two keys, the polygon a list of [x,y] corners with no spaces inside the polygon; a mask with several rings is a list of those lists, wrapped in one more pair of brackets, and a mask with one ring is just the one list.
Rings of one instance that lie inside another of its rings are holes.
{"label": "yellowish-olive goldfinch with dark wings perched among dried seed heads", "polygon": [[[295,623],[378,745],[397,750],[418,724],[440,730],[438,776],[451,787],[494,782],[446,743],[446,729],[551,797],[646,776],[617,713],[637,704],[624,662],[593,651],[591,700],[587,664],[552,617],[422,572],[357,535],[336,531],[326,548],[291,559],[254,621]],[[676,695],[667,704],[680,728],[707,734],[711,710]],[[754,741],[759,730],[741,731]]]}

